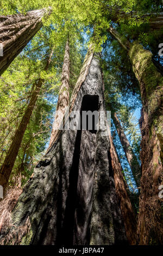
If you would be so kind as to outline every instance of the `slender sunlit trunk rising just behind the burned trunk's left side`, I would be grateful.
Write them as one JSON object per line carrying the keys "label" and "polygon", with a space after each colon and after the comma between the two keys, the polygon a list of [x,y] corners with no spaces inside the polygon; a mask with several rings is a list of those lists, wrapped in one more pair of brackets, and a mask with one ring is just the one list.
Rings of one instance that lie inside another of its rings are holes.
{"label": "slender sunlit trunk rising just behind the burned trunk's left side", "polygon": [[55,114],[55,120],[53,123],[51,139],[49,142],[49,147],[51,147],[57,130],[60,127],[62,119],[65,115],[67,106],[69,104],[69,90],[70,90],[70,46],[69,39],[67,39],[65,47],[64,63],[62,66],[62,76],[61,76],[61,87],[59,90],[58,103],[57,103],[57,114]]}

